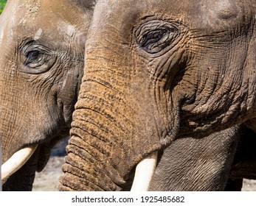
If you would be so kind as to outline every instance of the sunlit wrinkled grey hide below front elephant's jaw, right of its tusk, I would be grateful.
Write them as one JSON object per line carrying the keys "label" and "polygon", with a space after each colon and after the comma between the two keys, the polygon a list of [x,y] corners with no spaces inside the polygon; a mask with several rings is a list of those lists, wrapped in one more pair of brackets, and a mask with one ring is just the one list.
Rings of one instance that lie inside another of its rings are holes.
{"label": "sunlit wrinkled grey hide below front elephant's jaw, right of its tusk", "polygon": [[238,144],[238,131],[238,128],[226,129],[204,138],[173,141],[159,152],[162,155],[151,191],[224,191]]}

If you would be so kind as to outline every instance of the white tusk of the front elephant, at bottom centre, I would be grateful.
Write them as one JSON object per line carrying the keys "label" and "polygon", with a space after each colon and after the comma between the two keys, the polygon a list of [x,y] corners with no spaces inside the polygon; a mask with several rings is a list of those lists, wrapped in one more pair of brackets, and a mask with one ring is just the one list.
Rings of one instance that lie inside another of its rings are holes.
{"label": "white tusk of the front elephant, at bottom centre", "polygon": [[131,191],[148,191],[151,185],[153,174],[156,170],[157,152],[145,157],[136,166],[134,182]]}

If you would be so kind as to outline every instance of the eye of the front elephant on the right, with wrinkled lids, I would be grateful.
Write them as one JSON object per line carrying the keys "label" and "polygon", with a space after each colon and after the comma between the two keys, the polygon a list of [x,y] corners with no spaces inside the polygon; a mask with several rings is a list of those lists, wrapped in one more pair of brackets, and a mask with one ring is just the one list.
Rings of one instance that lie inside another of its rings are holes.
{"label": "eye of the front elephant on the right, with wrinkled lids", "polygon": [[150,54],[155,54],[165,49],[178,34],[179,30],[176,26],[169,22],[156,20],[142,24],[135,32],[136,43]]}

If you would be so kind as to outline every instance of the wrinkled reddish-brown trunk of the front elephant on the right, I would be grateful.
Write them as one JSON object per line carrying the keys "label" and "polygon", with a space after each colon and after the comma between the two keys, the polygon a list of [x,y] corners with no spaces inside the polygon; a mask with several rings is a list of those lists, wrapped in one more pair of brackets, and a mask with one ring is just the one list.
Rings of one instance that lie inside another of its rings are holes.
{"label": "wrinkled reddish-brown trunk of the front elephant on the right", "polygon": [[119,191],[134,166],[162,147],[156,123],[162,119],[144,71],[131,72],[132,58],[123,54],[122,65],[115,65],[108,51],[87,48],[101,52],[86,55],[60,190]]}

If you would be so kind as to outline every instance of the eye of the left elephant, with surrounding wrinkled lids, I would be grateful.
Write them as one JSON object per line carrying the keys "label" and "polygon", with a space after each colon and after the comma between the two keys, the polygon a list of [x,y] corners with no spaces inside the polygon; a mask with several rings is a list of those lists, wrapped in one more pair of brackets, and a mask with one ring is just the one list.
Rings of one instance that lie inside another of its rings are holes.
{"label": "eye of the left elephant, with surrounding wrinkled lids", "polygon": [[56,61],[53,52],[39,45],[29,45],[24,49],[24,66],[22,71],[28,74],[41,74],[52,68]]}

